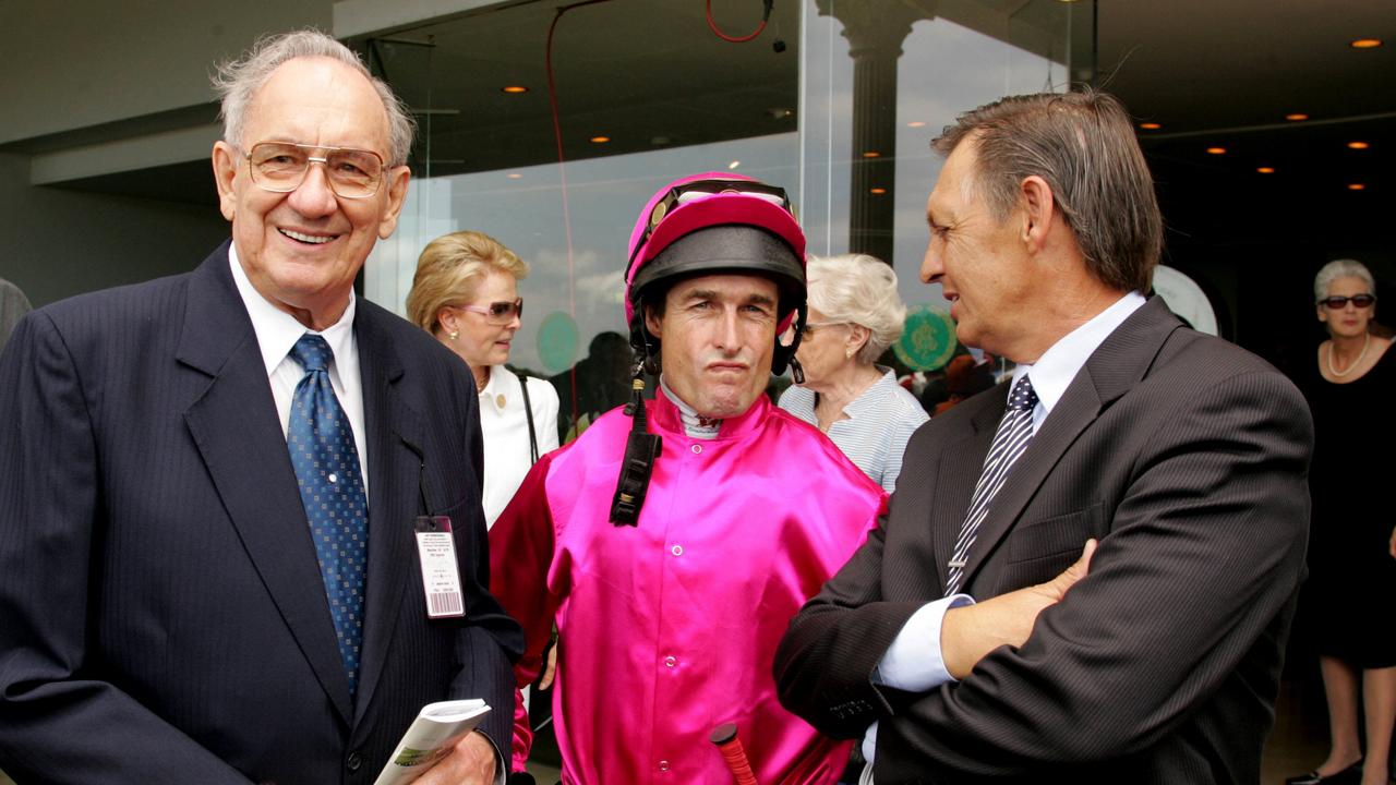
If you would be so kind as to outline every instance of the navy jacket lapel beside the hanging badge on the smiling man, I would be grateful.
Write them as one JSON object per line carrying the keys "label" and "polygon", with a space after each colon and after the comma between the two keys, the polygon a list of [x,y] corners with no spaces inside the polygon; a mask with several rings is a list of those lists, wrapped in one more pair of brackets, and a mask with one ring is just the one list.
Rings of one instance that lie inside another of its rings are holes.
{"label": "navy jacket lapel beside the hanging badge on the smiling man", "polygon": [[[413,553],[413,520],[422,510],[422,454],[426,427],[398,394],[403,367],[371,303],[359,302],[359,341],[366,444],[369,447],[369,585],[364,594],[363,659],[356,718],[370,705],[392,645]],[[426,613],[426,608],[408,608]]]}

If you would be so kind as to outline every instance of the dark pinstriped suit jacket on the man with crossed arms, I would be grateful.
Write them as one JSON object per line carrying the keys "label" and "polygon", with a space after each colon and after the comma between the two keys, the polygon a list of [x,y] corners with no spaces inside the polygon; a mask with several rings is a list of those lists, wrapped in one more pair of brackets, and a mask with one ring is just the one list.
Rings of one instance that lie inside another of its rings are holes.
{"label": "dark pinstriped suit jacket on the man with crossed arms", "polygon": [[800,612],[782,700],[835,736],[879,721],[875,779],[1258,782],[1304,570],[1312,423],[1279,372],[1153,299],[1092,355],[969,553],[979,599],[1090,574],[958,684],[870,682],[946,562],[1007,387],[933,419],[889,515]]}

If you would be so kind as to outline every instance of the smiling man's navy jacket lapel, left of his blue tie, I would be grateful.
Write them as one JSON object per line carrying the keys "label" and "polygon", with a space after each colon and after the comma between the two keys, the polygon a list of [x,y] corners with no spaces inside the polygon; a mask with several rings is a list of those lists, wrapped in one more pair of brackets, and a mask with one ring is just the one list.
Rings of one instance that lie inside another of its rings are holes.
{"label": "smiling man's navy jacket lapel, left of his blue tie", "polygon": [[292,636],[345,722],[349,679],[335,643],[306,510],[228,246],[190,277],[179,362],[211,377],[184,412],[214,487]]}

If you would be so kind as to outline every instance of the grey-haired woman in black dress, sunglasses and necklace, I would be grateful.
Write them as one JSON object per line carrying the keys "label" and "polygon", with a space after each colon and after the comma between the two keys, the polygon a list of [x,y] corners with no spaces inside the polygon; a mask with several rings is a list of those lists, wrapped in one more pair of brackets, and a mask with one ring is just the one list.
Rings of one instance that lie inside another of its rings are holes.
{"label": "grey-haired woman in black dress, sunglasses and necklace", "polygon": [[1392,342],[1371,334],[1376,286],[1361,263],[1323,265],[1314,299],[1329,338],[1305,384],[1314,412],[1314,513],[1304,606],[1323,673],[1332,747],[1316,770],[1287,782],[1385,785],[1396,722],[1396,634],[1382,612],[1396,599],[1396,504],[1385,492],[1390,465],[1374,455],[1396,444],[1396,359],[1388,352]]}

